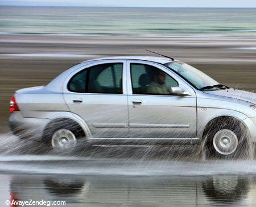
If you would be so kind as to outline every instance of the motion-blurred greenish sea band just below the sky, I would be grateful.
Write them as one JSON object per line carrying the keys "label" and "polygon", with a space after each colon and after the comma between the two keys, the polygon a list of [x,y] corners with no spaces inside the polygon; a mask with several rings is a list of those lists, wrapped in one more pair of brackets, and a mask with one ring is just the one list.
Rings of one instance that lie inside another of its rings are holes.
{"label": "motion-blurred greenish sea band just below the sky", "polygon": [[255,38],[256,9],[0,6],[0,32]]}

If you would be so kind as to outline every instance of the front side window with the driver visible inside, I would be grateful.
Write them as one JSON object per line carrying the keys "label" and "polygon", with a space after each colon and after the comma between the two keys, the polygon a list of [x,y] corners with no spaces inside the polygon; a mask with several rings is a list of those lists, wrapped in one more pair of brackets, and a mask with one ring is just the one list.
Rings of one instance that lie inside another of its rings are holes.
{"label": "front side window with the driver visible inside", "polygon": [[146,64],[131,64],[133,94],[170,94],[170,88],[178,86],[174,78]]}

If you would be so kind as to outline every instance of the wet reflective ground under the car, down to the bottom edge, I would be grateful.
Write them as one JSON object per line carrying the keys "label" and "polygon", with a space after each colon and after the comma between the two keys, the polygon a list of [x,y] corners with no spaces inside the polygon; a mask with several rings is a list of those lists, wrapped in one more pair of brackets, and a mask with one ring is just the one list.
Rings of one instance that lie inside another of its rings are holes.
{"label": "wet reflective ground under the car, down to the bottom edge", "polygon": [[60,206],[256,205],[256,160],[203,160],[194,155],[196,146],[35,155],[9,138],[0,143],[0,206],[8,206],[6,200],[66,202]]}

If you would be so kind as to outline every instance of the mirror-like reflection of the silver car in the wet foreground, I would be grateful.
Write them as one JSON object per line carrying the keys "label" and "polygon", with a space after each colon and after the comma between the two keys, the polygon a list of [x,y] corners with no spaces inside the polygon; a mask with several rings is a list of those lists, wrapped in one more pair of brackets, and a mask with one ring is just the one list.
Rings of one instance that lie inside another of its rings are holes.
{"label": "mirror-like reflection of the silver car in the wet foreground", "polygon": [[66,206],[256,205],[255,177],[14,176],[16,200],[65,200]]}

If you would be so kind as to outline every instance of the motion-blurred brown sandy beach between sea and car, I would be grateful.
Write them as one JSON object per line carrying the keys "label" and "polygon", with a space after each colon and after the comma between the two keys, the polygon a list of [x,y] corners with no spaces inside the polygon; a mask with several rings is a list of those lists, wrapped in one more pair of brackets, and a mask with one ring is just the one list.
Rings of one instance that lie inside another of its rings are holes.
{"label": "motion-blurred brown sandy beach between sea and car", "polygon": [[256,89],[255,39],[1,34],[1,126],[7,124],[15,90],[46,85],[71,65],[99,56],[154,56],[145,49],[185,61],[222,84]]}

